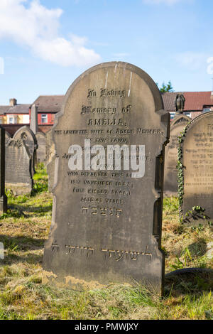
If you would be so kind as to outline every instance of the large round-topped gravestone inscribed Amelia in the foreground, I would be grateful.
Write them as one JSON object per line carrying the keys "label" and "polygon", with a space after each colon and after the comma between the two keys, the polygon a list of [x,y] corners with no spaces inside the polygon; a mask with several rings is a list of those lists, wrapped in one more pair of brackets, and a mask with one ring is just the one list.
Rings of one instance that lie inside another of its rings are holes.
{"label": "large round-topped gravestone inscribed Amelia in the foreground", "polygon": [[[138,281],[161,291],[163,166],[169,124],[158,87],[134,65],[103,63],[73,82],[53,127],[57,182],[43,282],[87,289]],[[98,156],[96,144],[102,145],[97,146]],[[111,163],[110,154],[106,167],[107,146],[123,144],[124,156],[115,156],[122,160],[121,170],[116,160]],[[80,165],[75,171],[71,166],[72,145],[78,145],[80,160],[85,157],[82,170]],[[130,146],[131,168],[127,168]],[[141,166],[138,173],[134,159]]]}

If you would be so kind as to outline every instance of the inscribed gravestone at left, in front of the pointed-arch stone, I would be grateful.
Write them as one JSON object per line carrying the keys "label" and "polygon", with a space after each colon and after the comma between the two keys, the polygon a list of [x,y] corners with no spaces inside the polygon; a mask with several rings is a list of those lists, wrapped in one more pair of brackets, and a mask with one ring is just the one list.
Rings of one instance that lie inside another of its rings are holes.
{"label": "inscribed gravestone at left, in front of the pointed-arch stone", "polygon": [[32,157],[25,141],[10,139],[6,144],[6,188],[14,195],[31,193]]}

